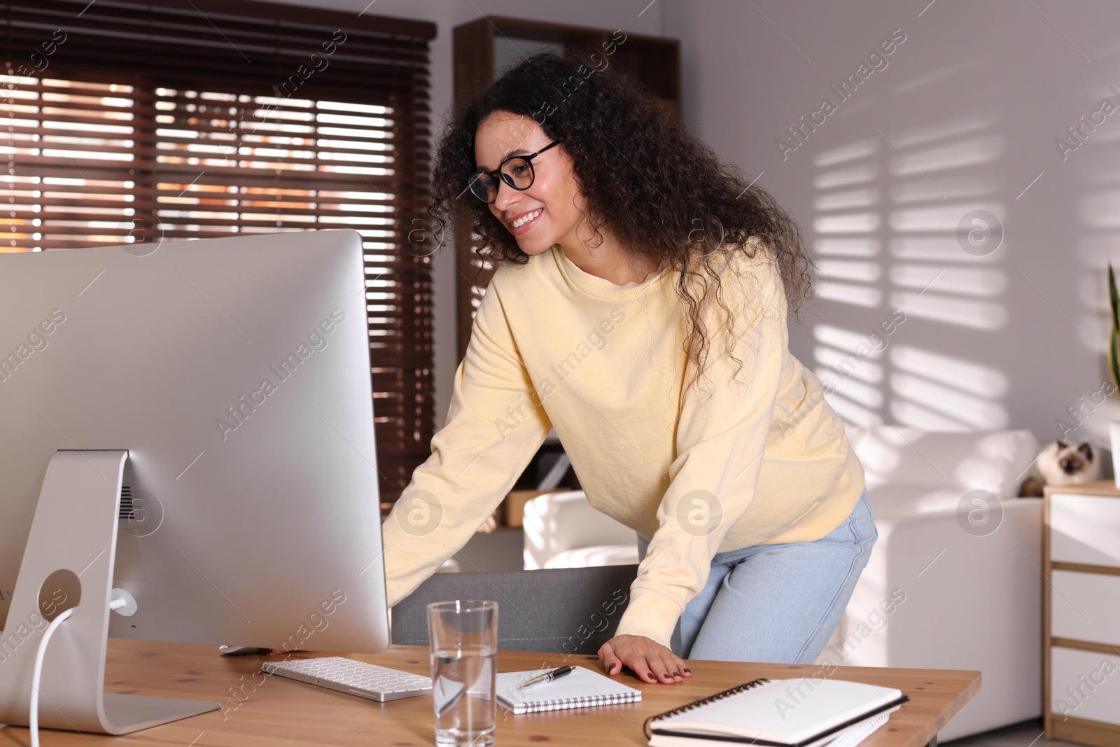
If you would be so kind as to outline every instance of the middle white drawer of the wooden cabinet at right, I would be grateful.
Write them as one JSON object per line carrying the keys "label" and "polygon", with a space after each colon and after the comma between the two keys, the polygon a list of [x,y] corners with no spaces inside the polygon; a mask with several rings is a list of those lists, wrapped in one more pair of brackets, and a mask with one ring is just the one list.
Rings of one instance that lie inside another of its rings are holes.
{"label": "middle white drawer of the wooden cabinet at right", "polygon": [[1051,635],[1120,645],[1120,576],[1054,571]]}

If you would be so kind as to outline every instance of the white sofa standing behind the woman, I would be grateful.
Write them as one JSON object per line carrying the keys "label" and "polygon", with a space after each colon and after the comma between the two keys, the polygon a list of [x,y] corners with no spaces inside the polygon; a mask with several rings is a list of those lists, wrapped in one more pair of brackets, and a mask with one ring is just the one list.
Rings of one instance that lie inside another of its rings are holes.
{"label": "white sofa standing behind the woman", "polygon": [[[848,438],[879,540],[818,663],[980,670],[942,741],[1040,716],[1042,499],[1015,497],[1034,435],[886,426]],[[531,501],[524,531],[525,568],[637,561],[634,532],[578,491]]]}

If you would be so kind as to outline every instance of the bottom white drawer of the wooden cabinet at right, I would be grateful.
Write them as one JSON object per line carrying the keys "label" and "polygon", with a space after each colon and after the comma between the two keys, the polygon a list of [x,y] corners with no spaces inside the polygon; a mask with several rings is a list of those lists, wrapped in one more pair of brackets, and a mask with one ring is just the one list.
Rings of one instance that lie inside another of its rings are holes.
{"label": "bottom white drawer of the wooden cabinet at right", "polygon": [[1120,726],[1120,655],[1051,648],[1047,707],[1071,716]]}

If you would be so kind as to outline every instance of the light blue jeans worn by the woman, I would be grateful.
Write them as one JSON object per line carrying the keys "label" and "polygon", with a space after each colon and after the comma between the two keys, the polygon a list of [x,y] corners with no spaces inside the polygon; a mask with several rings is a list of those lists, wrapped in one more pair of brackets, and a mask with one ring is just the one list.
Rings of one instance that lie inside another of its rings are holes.
{"label": "light blue jeans worn by the woman", "polygon": [[[867,491],[815,542],[719,552],[681,615],[684,659],[812,664],[843,615],[878,532]],[[648,545],[638,536],[638,558]]]}

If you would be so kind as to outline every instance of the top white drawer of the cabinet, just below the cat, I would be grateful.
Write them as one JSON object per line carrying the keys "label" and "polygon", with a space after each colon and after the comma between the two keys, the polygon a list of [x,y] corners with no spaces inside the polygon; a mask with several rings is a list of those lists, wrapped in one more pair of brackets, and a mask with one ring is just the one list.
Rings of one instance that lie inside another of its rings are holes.
{"label": "top white drawer of the cabinet, just below the cat", "polygon": [[1051,494],[1051,560],[1120,567],[1120,498]]}

